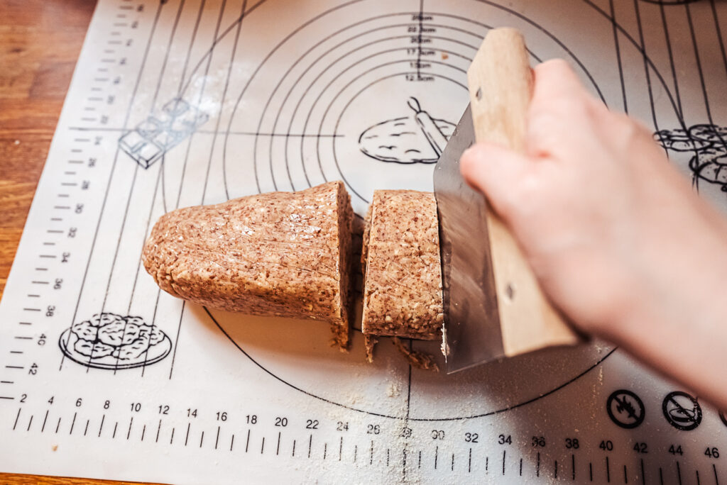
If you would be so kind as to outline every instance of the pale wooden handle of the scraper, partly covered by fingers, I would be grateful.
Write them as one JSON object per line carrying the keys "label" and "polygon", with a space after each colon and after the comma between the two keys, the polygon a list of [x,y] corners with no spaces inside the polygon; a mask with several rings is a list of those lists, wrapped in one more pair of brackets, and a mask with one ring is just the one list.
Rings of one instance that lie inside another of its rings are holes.
{"label": "pale wooden handle of the scraper, partly covered by fingers", "polygon": [[[523,152],[533,76],[522,34],[491,30],[467,70],[478,142]],[[509,229],[487,213],[502,346],[507,356],[580,341],[550,306]]]}

